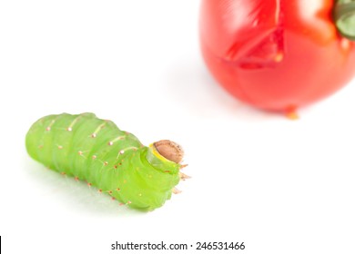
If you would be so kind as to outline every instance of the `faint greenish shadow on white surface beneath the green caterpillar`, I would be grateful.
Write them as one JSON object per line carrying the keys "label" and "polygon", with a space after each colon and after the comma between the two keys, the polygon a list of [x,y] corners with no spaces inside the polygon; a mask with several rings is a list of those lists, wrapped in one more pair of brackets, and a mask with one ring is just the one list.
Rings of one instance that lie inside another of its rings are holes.
{"label": "faint greenish shadow on white surface beneath the green caterpillar", "polygon": [[[28,157],[28,156],[27,156]],[[37,203],[41,210],[52,210],[56,214],[73,212],[83,215],[98,215],[109,217],[130,217],[145,214],[112,200],[108,194],[100,193],[95,187],[89,187],[85,181],[76,181],[72,177],[47,169],[31,158],[24,158],[25,176],[30,188],[26,200]],[[35,195],[35,196],[34,196]]]}

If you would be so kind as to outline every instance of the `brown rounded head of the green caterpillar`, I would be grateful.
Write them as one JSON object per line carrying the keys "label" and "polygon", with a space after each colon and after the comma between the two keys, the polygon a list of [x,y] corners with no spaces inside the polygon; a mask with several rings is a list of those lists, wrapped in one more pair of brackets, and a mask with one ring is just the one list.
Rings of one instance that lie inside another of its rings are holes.
{"label": "brown rounded head of the green caterpillar", "polygon": [[163,156],[169,161],[179,163],[184,157],[184,151],[182,150],[181,146],[178,145],[176,142],[163,140],[155,142],[154,147],[157,149],[157,152],[159,152],[161,156]]}

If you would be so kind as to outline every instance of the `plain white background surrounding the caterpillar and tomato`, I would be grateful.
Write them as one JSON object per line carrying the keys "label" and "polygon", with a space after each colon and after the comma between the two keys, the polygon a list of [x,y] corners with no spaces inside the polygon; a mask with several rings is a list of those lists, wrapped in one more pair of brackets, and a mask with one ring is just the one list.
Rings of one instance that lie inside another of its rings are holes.
{"label": "plain white background surrounding the caterpillar and tomato", "polygon": [[[1,1],[5,253],[118,253],[116,241],[161,240],[244,241],[240,253],[355,252],[355,83],[296,122],[238,103],[201,60],[198,5]],[[143,213],[46,170],[26,154],[25,133],[61,112],[95,112],[145,144],[179,142],[192,179]]]}

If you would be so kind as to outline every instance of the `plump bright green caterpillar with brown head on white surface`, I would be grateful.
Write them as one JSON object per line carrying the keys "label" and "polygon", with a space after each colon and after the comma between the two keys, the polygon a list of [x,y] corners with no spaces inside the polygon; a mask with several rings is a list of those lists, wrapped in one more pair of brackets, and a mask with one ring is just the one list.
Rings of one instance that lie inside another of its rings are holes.
{"label": "plump bright green caterpillar with brown head on white surface", "polygon": [[177,143],[164,140],[146,147],[94,113],[45,116],[27,132],[25,146],[49,169],[87,181],[139,210],[161,207],[178,192],[180,179],[188,178],[179,171],[185,165]]}

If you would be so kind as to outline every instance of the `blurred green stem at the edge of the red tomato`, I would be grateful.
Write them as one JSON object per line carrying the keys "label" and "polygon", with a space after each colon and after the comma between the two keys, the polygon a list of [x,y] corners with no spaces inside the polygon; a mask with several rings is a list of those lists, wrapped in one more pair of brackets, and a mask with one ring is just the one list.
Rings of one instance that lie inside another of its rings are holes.
{"label": "blurred green stem at the edge of the red tomato", "polygon": [[355,0],[338,0],[333,15],[340,34],[355,41]]}

